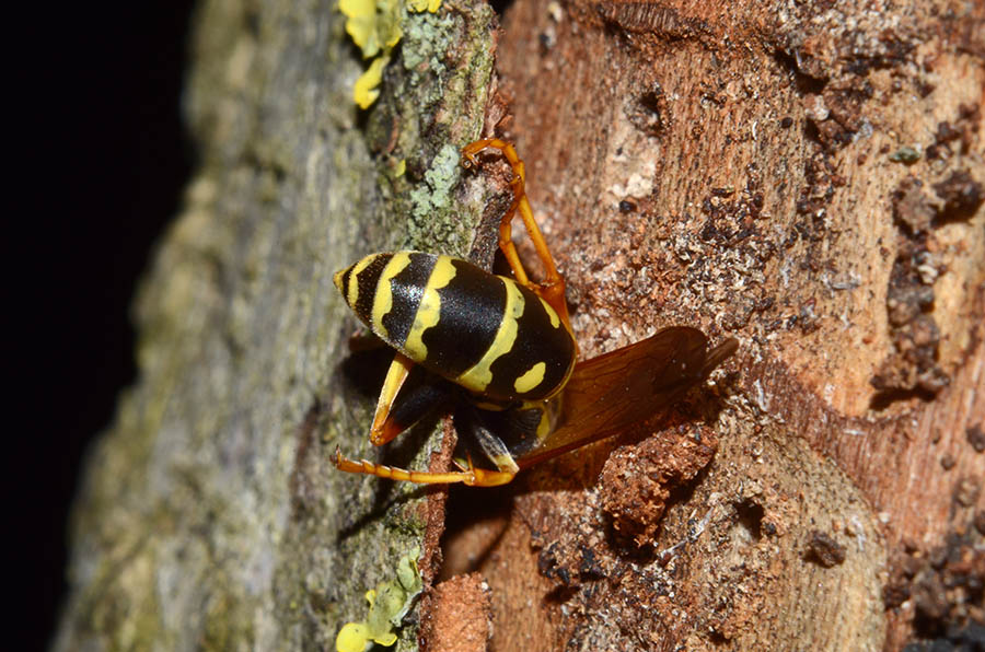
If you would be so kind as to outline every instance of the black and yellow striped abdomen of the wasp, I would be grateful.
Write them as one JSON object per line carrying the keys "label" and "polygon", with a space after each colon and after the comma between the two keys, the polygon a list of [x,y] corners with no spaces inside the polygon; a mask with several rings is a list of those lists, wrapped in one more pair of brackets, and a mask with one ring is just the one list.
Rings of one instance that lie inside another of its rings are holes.
{"label": "black and yellow striped abdomen of the wasp", "polygon": [[534,292],[457,258],[394,252],[335,275],[374,334],[476,394],[542,400],[575,365],[575,340]]}

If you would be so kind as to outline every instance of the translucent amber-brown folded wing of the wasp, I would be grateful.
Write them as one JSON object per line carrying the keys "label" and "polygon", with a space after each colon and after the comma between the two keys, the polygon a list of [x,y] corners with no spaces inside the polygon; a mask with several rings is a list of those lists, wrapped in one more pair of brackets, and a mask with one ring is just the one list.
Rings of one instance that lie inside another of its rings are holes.
{"label": "translucent amber-brown folded wing of the wasp", "polygon": [[517,459],[526,468],[651,418],[735,352],[728,339],[708,350],[696,328],[664,328],[628,347],[579,362],[565,385],[557,426]]}

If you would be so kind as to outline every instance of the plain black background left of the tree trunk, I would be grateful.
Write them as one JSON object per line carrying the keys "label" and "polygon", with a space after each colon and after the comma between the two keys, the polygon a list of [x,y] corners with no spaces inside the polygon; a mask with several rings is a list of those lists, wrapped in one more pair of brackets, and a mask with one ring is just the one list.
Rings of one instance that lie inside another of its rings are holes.
{"label": "plain black background left of the tree trunk", "polygon": [[181,121],[192,2],[45,7],[7,23],[5,104],[19,116],[3,148],[15,171],[3,237],[10,650],[43,650],[54,633],[80,465],[136,380],[129,305],[194,166]]}

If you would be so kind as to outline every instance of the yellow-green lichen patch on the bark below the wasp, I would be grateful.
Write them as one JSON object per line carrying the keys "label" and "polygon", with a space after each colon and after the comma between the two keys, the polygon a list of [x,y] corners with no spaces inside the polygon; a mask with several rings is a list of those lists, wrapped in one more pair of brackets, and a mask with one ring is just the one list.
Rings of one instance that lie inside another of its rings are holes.
{"label": "yellow-green lichen patch on the bark below the wasp", "polygon": [[399,627],[415,598],[424,589],[417,557],[420,548],[412,549],[397,562],[396,579],[366,592],[369,613],[366,620],[347,622],[335,639],[337,652],[363,652],[372,643],[393,645]]}

